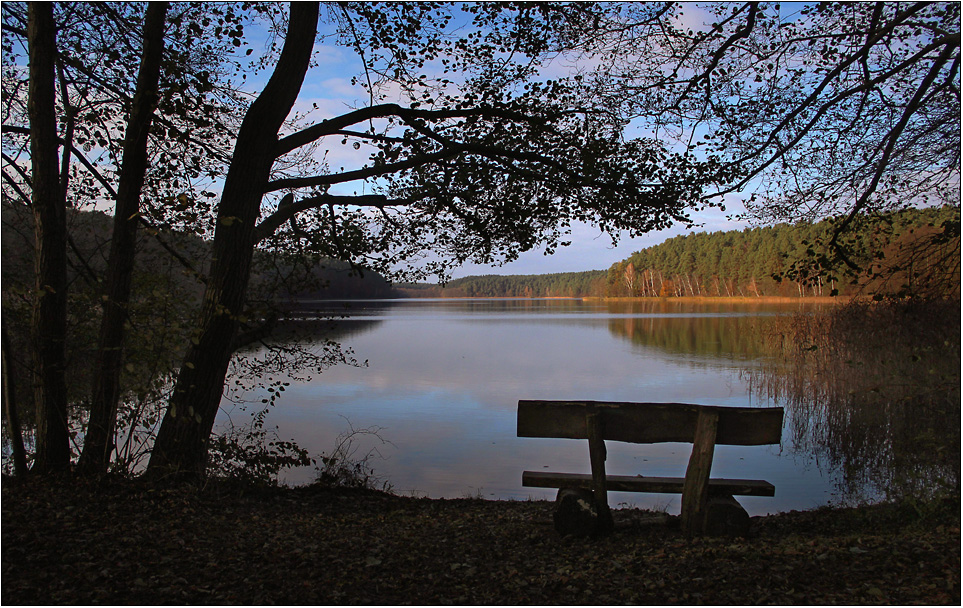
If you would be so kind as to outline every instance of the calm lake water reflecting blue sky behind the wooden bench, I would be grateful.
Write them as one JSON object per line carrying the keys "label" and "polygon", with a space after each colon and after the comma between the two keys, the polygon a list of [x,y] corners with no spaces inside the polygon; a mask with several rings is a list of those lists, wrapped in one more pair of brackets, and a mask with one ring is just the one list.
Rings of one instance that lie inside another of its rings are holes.
{"label": "calm lake water reflecting blue sky behind the wooden bench", "polygon": [[[375,474],[403,495],[432,498],[554,499],[525,488],[523,470],[590,472],[588,442],[519,439],[519,399],[782,405],[760,398],[749,373],[764,362],[761,336],[776,315],[808,303],[728,304],[579,299],[405,299],[314,302],[300,324],[321,344],[333,338],[366,367],[338,365],[290,382],[267,416],[278,436],[312,454],[330,453],[339,434]],[[298,374],[292,374],[297,376]],[[220,423],[243,422],[267,395],[230,395]],[[247,410],[238,398],[257,404]],[[682,476],[689,444],[608,443],[612,474]],[[773,498],[744,497],[752,515],[839,502],[838,471],[818,454],[781,445],[717,446],[713,476],[758,478]],[[286,483],[314,479],[312,468],[287,471]],[[678,513],[679,495],[612,493],[610,503]]]}

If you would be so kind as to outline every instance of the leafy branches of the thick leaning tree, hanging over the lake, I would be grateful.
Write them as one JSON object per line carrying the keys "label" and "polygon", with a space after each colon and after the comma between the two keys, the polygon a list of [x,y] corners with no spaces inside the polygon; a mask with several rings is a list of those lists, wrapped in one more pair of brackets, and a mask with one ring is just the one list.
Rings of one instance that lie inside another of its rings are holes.
{"label": "leafy branches of the thick leaning tree, hanging over the lake", "polygon": [[[283,137],[280,149],[350,145],[368,153],[367,162],[272,179],[265,189],[273,213],[259,229],[266,246],[303,248],[393,278],[443,277],[467,260],[508,261],[539,244],[552,250],[574,219],[613,234],[685,221],[701,186],[720,178],[711,162],[655,140],[622,142],[618,119],[580,77],[540,77],[539,65],[564,52],[557,44],[577,44],[556,40],[563,26],[553,17],[588,9],[461,9],[473,19],[467,37],[446,7],[427,4],[352,5],[327,15],[336,40],[364,63],[358,82],[370,103]],[[515,54],[503,55],[507,48]],[[439,57],[442,73],[422,75]],[[328,193],[356,180],[374,194]],[[290,202],[270,194],[293,189]],[[405,263],[427,252],[430,261]]]}

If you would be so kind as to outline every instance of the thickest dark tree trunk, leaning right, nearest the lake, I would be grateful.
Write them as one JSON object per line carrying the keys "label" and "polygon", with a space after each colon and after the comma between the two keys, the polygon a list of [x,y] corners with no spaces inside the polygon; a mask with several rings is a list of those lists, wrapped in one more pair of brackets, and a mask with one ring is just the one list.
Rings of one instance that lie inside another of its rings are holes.
{"label": "thickest dark tree trunk, leaning right, nearest the lake", "polygon": [[308,69],[317,23],[316,2],[292,3],[277,67],[238,132],[218,206],[213,262],[201,315],[154,443],[149,475],[204,475],[208,439],[247,291],[261,197],[275,160],[278,131]]}

